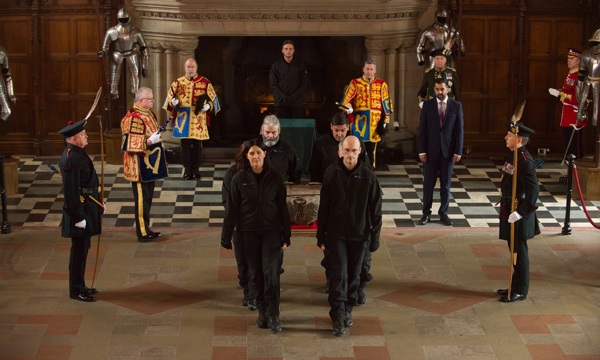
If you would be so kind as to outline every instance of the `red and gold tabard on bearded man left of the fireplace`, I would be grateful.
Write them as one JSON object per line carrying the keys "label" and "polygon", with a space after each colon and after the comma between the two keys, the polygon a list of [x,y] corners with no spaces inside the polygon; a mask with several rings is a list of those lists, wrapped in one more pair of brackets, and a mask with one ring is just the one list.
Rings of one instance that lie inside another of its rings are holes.
{"label": "red and gold tabard on bearded man left of the fireplace", "polygon": [[[204,95],[204,96],[203,96]],[[179,100],[177,107],[171,105],[174,97]],[[201,102],[200,104],[197,103]],[[173,121],[173,137],[183,139],[208,140],[210,119],[208,112],[201,111],[204,104],[217,114],[221,110],[219,99],[210,81],[199,75],[191,80],[182,76],[175,80],[163,105],[163,109],[175,116]]]}

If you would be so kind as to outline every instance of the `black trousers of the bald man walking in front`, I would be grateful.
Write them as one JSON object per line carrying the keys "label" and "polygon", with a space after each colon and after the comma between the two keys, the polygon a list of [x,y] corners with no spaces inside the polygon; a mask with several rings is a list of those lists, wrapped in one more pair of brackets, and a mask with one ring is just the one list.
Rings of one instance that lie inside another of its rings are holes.
{"label": "black trousers of the bald man walking in front", "polygon": [[358,285],[362,261],[369,242],[328,239],[331,250],[331,281],[329,284],[329,317],[343,320],[358,300]]}

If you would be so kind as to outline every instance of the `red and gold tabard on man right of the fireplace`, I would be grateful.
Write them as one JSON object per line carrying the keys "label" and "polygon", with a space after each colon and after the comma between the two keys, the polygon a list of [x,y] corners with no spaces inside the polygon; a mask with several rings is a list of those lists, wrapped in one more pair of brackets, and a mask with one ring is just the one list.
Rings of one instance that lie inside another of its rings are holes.
{"label": "red and gold tabard on man right of the fireplace", "polygon": [[352,134],[362,141],[381,141],[376,131],[377,123],[380,120],[389,123],[389,116],[393,112],[387,83],[377,78],[369,81],[364,76],[353,79],[342,100],[342,105],[349,104],[354,109]]}

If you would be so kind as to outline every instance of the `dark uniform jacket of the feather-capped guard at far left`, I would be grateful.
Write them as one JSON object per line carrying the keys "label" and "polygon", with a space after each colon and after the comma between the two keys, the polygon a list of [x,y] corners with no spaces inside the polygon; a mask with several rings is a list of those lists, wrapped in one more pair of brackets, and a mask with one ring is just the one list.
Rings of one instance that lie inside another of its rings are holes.
{"label": "dark uniform jacket of the feather-capped guard at far left", "polygon": [[[67,144],[58,162],[60,167],[65,202],[61,221],[62,236],[83,237],[102,232],[100,216],[103,208],[90,197],[102,204],[98,193],[98,175],[94,164],[83,148]],[[75,223],[85,219],[86,227],[75,227]]]}

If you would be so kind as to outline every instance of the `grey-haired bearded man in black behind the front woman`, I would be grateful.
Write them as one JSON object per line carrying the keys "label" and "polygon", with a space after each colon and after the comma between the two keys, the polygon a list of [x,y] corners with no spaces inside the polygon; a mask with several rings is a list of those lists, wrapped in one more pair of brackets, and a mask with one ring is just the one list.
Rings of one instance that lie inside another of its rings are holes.
{"label": "grey-haired bearded man in black behind the front woman", "polygon": [[267,158],[271,167],[277,170],[284,181],[299,183],[302,177],[300,161],[296,150],[281,139],[281,125],[275,115],[267,115],[260,127],[260,135],[267,146]]}

